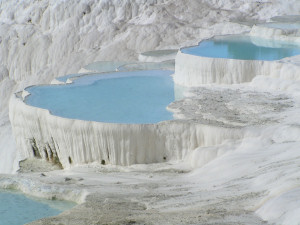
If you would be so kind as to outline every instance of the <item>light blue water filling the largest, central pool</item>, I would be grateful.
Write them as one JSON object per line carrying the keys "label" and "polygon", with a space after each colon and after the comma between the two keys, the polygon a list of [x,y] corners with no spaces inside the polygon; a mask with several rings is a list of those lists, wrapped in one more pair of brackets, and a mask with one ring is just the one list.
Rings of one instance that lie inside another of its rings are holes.
{"label": "light blue water filling the largest, central pool", "polygon": [[90,75],[70,85],[35,86],[25,102],[61,117],[110,122],[157,123],[173,119],[172,71],[152,70]]}

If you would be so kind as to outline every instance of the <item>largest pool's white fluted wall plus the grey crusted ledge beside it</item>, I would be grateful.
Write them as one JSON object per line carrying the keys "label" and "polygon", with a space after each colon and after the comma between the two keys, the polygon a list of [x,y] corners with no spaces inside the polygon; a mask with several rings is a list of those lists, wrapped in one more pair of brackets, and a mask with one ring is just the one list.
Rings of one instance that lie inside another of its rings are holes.
{"label": "largest pool's white fluted wall plus the grey crusted ledge beside it", "polygon": [[[175,87],[175,96],[182,95],[180,92]],[[200,147],[255,136],[244,129],[276,123],[268,114],[291,107],[284,96],[234,90],[225,94],[219,89],[198,88],[187,91],[191,97],[168,106],[175,120],[117,124],[52,115],[47,109],[26,104],[23,99],[27,94],[24,90],[13,95],[9,105],[21,159],[41,157],[64,168],[93,162],[128,166],[183,160]],[[200,164],[223,153],[210,150],[208,159],[202,157]],[[200,166],[199,161],[195,165]]]}

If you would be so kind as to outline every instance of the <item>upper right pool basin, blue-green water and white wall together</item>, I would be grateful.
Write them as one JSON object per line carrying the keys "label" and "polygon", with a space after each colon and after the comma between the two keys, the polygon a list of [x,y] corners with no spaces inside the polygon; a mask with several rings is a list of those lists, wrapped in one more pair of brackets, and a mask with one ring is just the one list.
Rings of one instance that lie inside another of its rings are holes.
{"label": "upper right pool basin, blue-green water and white wall together", "polygon": [[174,82],[201,86],[250,82],[257,75],[293,78],[297,66],[289,66],[286,72],[282,60],[299,54],[300,47],[292,42],[240,35],[215,37],[178,52]]}

